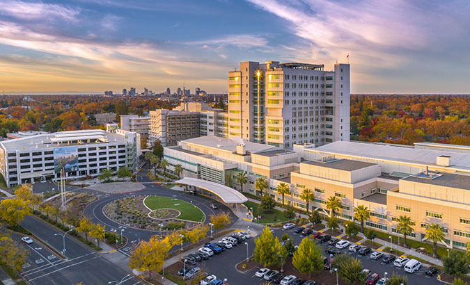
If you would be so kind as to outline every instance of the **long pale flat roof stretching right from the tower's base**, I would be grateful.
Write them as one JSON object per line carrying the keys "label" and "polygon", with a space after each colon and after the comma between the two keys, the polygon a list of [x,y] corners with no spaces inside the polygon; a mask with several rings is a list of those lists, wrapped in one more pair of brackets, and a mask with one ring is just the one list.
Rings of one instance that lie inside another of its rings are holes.
{"label": "long pale flat roof stretching right from the tower's base", "polygon": [[452,156],[453,165],[451,167],[470,170],[470,154],[445,152],[435,149],[417,149],[409,146],[400,147],[397,145],[377,145],[371,142],[345,142],[338,140],[315,149],[306,149],[306,151],[343,154],[359,158],[375,158],[384,161],[398,161],[421,165],[437,165],[436,157],[447,155]]}

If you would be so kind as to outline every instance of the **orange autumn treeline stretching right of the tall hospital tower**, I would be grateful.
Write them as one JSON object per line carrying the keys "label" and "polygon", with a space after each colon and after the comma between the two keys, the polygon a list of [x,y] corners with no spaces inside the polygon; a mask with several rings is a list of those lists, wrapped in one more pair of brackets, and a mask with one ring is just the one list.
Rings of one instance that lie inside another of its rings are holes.
{"label": "orange autumn treeline stretching right of the tall hospital tower", "polygon": [[470,145],[470,96],[351,95],[351,139]]}

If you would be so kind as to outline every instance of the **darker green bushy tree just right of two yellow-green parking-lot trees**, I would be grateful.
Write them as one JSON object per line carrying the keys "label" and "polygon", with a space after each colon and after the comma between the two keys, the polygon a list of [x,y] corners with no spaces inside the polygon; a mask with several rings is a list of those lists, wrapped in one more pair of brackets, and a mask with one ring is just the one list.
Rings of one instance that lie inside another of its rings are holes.
{"label": "darker green bushy tree just right of two yellow-green parking-lot trees", "polygon": [[362,263],[357,258],[350,257],[349,254],[340,254],[335,257],[333,266],[338,270],[338,275],[347,284],[361,284],[365,277],[362,272]]}

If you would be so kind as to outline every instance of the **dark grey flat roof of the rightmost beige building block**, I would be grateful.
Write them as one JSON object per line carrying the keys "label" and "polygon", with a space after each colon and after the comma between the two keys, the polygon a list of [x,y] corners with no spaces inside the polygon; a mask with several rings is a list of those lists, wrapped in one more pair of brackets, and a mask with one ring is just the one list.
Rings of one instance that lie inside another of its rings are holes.
{"label": "dark grey flat roof of the rightmost beige building block", "polygon": [[405,177],[402,180],[413,181],[423,184],[432,184],[437,186],[444,186],[449,188],[460,188],[465,190],[470,190],[470,176],[469,175],[460,175],[460,174],[450,174],[450,173],[433,173],[434,177],[426,178],[423,172],[421,175]]}

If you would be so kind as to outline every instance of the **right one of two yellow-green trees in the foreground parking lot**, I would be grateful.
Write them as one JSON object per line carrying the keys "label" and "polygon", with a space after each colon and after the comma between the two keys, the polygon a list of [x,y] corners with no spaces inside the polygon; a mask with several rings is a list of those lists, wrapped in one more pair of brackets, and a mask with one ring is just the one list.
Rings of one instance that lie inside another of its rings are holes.
{"label": "right one of two yellow-green trees in the foreground parking lot", "polygon": [[302,274],[311,276],[313,272],[323,269],[322,248],[313,243],[311,238],[302,239],[299,247],[292,257],[292,266]]}

